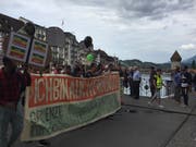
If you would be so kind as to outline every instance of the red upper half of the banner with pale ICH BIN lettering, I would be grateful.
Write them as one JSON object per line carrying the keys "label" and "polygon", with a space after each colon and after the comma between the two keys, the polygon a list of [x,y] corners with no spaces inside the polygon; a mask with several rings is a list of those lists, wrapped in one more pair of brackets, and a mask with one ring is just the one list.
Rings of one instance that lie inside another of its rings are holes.
{"label": "red upper half of the banner with pale ICH BIN lettering", "polygon": [[120,90],[119,74],[93,78],[75,78],[58,75],[32,75],[28,106],[37,107],[57,102],[94,99]]}

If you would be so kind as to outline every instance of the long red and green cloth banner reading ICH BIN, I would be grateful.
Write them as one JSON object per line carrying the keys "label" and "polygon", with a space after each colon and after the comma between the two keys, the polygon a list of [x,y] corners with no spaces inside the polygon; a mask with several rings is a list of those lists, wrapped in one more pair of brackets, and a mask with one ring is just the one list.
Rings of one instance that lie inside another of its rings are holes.
{"label": "long red and green cloth banner reading ICH BIN", "polygon": [[26,93],[22,140],[56,136],[121,108],[119,73],[77,78],[64,75],[32,75]]}

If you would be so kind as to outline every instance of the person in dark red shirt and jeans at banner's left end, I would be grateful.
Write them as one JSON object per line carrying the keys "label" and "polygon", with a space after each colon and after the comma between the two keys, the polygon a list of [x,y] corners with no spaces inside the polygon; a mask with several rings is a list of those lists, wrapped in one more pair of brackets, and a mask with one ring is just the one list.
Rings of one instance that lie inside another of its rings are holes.
{"label": "person in dark red shirt and jeans at banner's left end", "polygon": [[[21,135],[23,130],[23,114],[20,110],[20,95],[22,91],[22,74],[15,63],[8,57],[2,59],[0,69],[0,147],[10,147]],[[11,134],[8,136],[9,124]]]}

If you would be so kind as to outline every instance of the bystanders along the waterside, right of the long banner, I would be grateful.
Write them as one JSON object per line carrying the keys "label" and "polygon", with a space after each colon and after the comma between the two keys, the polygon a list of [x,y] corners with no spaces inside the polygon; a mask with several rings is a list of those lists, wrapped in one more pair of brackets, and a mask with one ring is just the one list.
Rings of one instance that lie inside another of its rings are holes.
{"label": "bystanders along the waterside, right of the long banner", "polygon": [[[142,75],[137,66],[123,71],[123,87],[125,89],[130,88],[130,96],[135,99],[139,98],[140,81]],[[188,107],[188,93],[192,89],[196,91],[196,73],[191,73],[187,65],[182,69],[176,66],[171,73],[171,82],[174,90],[173,99],[182,107]],[[161,105],[161,89],[162,86],[171,88],[171,85],[163,82],[161,69],[151,66],[149,71],[149,89],[151,96],[148,105],[152,105],[154,101],[157,101],[158,106],[163,108]]]}

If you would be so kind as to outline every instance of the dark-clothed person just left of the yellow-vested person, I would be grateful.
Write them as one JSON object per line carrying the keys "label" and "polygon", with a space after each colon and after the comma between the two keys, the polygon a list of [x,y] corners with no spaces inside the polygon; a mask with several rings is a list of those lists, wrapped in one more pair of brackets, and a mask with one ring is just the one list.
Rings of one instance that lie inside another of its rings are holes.
{"label": "dark-clothed person just left of the yellow-vested person", "polygon": [[149,75],[149,87],[150,87],[151,97],[155,95],[155,91],[156,91],[156,86],[154,84],[156,74],[157,73],[156,73],[155,66],[151,66],[150,68],[150,75]]}

